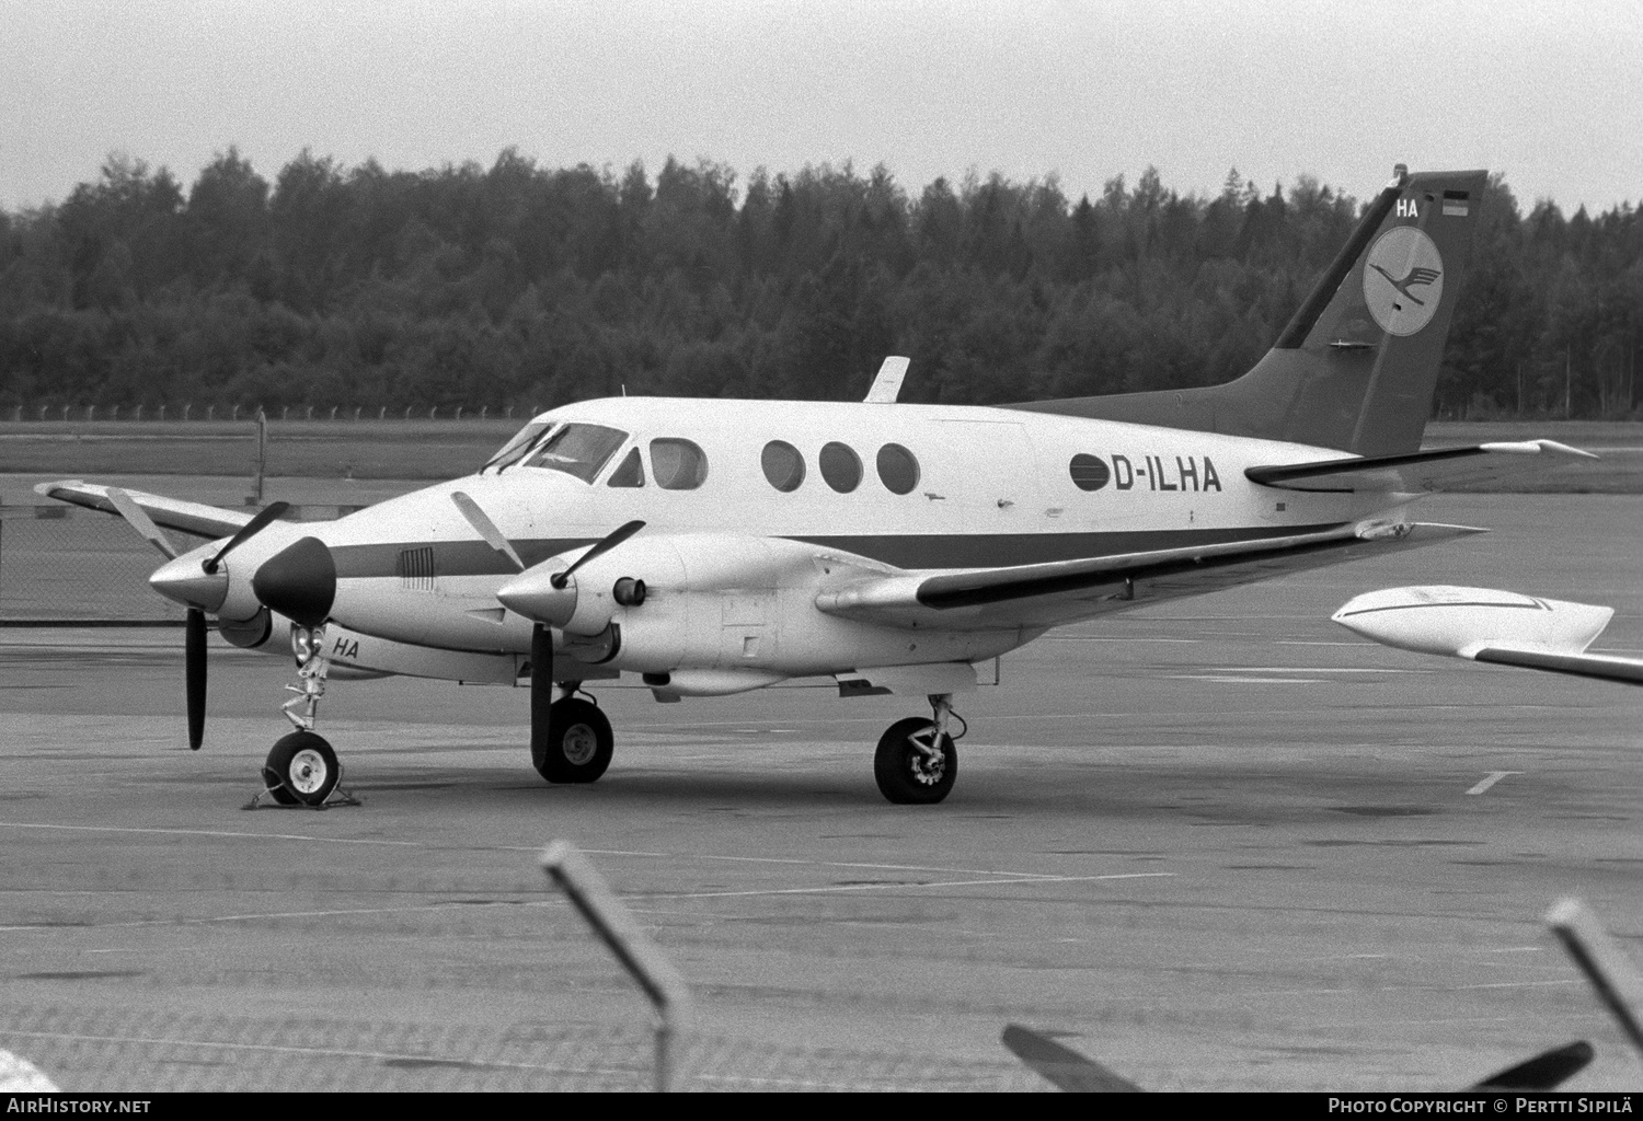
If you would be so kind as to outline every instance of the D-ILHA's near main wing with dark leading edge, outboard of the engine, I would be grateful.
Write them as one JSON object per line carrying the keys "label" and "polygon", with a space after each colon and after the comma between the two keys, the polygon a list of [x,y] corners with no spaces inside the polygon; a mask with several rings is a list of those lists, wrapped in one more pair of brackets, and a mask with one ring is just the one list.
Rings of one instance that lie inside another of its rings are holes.
{"label": "D-ILHA's near main wing with dark leading edge, outboard of the engine", "polygon": [[868,576],[823,591],[815,602],[828,614],[895,627],[1055,627],[1482,532],[1467,525],[1347,522],[1290,537],[1048,565]]}

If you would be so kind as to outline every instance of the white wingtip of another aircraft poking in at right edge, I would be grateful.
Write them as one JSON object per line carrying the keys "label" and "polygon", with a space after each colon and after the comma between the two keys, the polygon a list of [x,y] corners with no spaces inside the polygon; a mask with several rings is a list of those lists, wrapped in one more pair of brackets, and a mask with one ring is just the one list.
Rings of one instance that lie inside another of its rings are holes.
{"label": "white wingtip of another aircraft poking in at right edge", "polygon": [[1613,614],[1612,607],[1493,588],[1434,584],[1364,593],[1331,619],[1400,650],[1643,684],[1643,658],[1585,653]]}

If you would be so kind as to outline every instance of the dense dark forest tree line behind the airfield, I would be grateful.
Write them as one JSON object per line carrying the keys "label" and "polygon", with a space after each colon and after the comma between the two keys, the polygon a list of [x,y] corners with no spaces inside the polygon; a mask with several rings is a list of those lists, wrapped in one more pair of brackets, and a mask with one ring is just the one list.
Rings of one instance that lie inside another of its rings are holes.
{"label": "dense dark forest tree line behind the airfield", "polygon": [[[394,414],[631,394],[991,404],[1199,386],[1260,358],[1362,213],[1311,177],[1214,197],[1148,169],[882,167],[652,177],[508,149],[409,172],[235,149],[187,189],[112,156],[62,202],[0,210],[0,415],[184,404]],[[1523,212],[1500,176],[1434,409],[1636,417],[1643,217]],[[176,415],[176,414],[173,414]]]}

